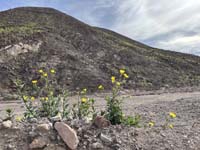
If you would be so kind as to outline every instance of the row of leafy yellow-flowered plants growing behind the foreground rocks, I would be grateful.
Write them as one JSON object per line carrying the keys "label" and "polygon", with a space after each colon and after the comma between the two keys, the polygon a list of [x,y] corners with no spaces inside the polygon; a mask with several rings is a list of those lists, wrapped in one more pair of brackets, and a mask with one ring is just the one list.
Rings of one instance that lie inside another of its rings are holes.
{"label": "row of leafy yellow-flowered plants growing behind the foreground rocks", "polygon": [[[67,92],[64,91],[57,95],[55,93],[54,87],[57,87],[55,74],[56,71],[54,69],[39,69],[37,72],[39,78],[32,79],[30,87],[20,80],[14,82],[18,89],[18,95],[26,107],[26,112],[24,113],[26,119],[38,117],[51,118],[60,115],[62,118],[69,118],[71,116],[73,119],[93,120],[97,115],[102,115],[102,111],[97,112],[95,109],[95,100],[87,96],[86,88],[78,92],[77,103],[73,104],[72,109],[69,110]],[[140,117],[125,116],[122,111],[121,103],[123,100],[119,100],[118,97],[120,89],[126,83],[129,75],[124,69],[120,69],[119,74],[118,80],[115,76],[111,77],[113,85],[112,94],[111,96],[106,96],[107,107],[103,115],[113,125],[123,123],[125,125],[137,126]],[[100,91],[104,89],[103,85],[99,85],[97,88]],[[36,101],[39,101],[39,104]]]}

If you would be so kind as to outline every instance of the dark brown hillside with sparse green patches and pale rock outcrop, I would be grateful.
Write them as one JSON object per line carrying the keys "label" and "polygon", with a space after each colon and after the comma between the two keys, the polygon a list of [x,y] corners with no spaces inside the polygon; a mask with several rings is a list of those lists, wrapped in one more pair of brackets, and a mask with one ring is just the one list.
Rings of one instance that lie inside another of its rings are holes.
{"label": "dark brown hillside with sparse green patches and pale rock outcrop", "polygon": [[70,89],[109,88],[120,68],[130,76],[126,88],[200,84],[198,56],[152,48],[51,8],[0,12],[0,86],[10,87],[15,77],[31,79],[36,67],[45,66]]}

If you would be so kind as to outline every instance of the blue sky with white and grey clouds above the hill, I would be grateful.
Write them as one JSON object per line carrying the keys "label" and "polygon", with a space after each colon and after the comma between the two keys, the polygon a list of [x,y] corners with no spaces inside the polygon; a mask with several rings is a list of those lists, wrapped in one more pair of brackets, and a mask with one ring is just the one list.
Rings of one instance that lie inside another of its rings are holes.
{"label": "blue sky with white and grey clouds above the hill", "polygon": [[0,11],[20,6],[53,7],[153,47],[200,55],[200,0],[0,0]]}

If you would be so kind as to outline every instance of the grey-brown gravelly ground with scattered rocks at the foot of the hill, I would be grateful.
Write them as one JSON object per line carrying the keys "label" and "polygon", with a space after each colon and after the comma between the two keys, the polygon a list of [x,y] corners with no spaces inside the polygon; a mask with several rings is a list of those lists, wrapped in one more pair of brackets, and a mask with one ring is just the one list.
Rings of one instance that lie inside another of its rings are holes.
{"label": "grey-brown gravelly ground with scattered rocks at the foot of the hill", "polygon": [[[102,95],[97,98],[97,107],[104,106]],[[127,114],[140,114],[140,128],[123,125],[97,128],[86,121],[65,121],[72,131],[70,139],[77,133],[78,150],[199,150],[200,149],[200,92],[163,93],[154,95],[123,95],[123,108]],[[14,106],[13,103],[1,104]],[[4,107],[5,108],[5,107]],[[20,109],[20,103],[16,109]],[[126,108],[126,109],[125,109]],[[176,112],[173,129],[163,129],[168,112]],[[1,112],[1,117],[3,113]],[[155,126],[146,127],[149,121]],[[62,123],[61,123],[62,124]],[[9,126],[9,123],[7,123]],[[58,125],[59,126],[59,125]],[[64,150],[68,149],[63,135],[47,119],[30,122],[12,122],[11,127],[0,127],[0,150]],[[63,126],[63,125],[60,125]],[[65,125],[64,125],[65,126]],[[64,127],[67,128],[67,127]],[[66,130],[65,130],[66,131]],[[75,132],[74,132],[75,131]],[[61,132],[62,133],[62,132]],[[63,142],[64,140],[64,142]],[[76,145],[76,137],[69,145]],[[70,140],[67,140],[68,142]],[[69,146],[68,145],[68,146]]]}

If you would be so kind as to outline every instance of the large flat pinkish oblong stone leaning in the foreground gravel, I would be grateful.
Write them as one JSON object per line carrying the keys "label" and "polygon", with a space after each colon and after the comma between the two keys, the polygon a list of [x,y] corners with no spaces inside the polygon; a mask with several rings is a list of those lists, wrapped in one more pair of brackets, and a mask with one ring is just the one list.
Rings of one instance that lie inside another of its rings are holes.
{"label": "large flat pinkish oblong stone leaning in the foreground gravel", "polygon": [[77,148],[79,140],[74,129],[63,122],[56,122],[55,129],[70,149]]}

